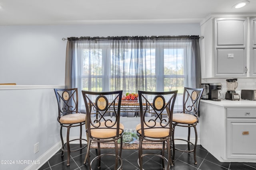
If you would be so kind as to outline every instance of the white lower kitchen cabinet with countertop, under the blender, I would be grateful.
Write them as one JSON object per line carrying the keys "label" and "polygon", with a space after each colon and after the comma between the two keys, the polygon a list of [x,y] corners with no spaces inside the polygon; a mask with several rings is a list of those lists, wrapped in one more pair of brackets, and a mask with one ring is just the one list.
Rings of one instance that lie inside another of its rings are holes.
{"label": "white lower kitchen cabinet with countertop, under the blender", "polygon": [[256,162],[256,101],[202,101],[200,143],[220,162]]}

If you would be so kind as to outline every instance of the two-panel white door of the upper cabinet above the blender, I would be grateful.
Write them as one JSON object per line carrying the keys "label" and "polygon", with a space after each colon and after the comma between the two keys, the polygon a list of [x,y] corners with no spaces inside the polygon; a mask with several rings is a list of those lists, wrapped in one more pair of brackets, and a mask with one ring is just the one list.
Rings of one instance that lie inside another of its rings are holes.
{"label": "two-panel white door of the upper cabinet above the blender", "polygon": [[246,76],[247,19],[215,18],[214,76]]}

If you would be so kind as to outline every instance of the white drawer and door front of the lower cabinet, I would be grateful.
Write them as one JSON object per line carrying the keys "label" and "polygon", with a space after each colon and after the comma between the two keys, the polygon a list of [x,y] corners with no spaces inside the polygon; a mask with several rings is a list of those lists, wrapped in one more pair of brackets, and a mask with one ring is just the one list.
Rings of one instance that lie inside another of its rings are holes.
{"label": "white drawer and door front of the lower cabinet", "polygon": [[227,158],[256,159],[256,109],[226,109]]}

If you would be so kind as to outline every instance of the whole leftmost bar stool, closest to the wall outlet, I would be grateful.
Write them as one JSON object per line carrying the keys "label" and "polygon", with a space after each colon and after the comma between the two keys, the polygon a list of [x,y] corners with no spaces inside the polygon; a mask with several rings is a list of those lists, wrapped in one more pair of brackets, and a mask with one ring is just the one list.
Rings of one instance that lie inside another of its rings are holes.
{"label": "whole leftmost bar stool, closest to the wall outlet", "polygon": [[[78,111],[78,91],[77,88],[69,89],[54,89],[57,101],[58,101],[58,122],[60,123],[60,139],[62,143],[61,156],[64,156],[63,152],[68,152],[67,166],[70,165],[70,152],[81,150],[87,145],[82,147],[82,125],[85,124],[86,114]],[[66,143],[62,137],[62,127],[67,128],[67,140]],[[80,127],[80,137],[78,139],[69,140],[69,132],[71,127]],[[76,150],[70,150],[70,142],[79,140],[80,148]]]}

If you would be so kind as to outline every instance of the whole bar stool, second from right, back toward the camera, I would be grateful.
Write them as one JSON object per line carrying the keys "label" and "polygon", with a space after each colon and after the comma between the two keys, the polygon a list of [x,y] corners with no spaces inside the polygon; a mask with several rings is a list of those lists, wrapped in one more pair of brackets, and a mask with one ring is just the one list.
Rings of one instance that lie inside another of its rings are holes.
{"label": "whole bar stool, second from right, back toward the camera", "polygon": [[[138,165],[142,170],[142,158],[147,155],[156,155],[162,158],[162,169],[165,169],[164,160],[168,162],[167,170],[173,166],[171,158],[172,137],[172,113],[177,90],[170,92],[145,92],[138,91],[140,102],[140,124],[136,126],[137,135],[140,139]],[[148,111],[154,117],[147,117]],[[162,154],[142,153],[143,140],[162,143]],[[167,146],[168,158],[164,156],[165,145]]]}

